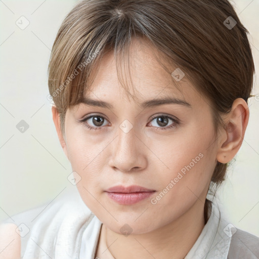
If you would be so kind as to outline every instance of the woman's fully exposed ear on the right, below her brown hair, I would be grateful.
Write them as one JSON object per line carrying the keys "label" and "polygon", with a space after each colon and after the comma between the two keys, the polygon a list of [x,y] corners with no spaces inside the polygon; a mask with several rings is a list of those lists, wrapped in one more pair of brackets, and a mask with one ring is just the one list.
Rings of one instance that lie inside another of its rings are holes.
{"label": "woman's fully exposed ear on the right, below her brown hair", "polygon": [[249,119],[249,108],[242,98],[237,98],[232,105],[230,113],[224,119],[226,128],[221,136],[217,160],[228,163],[238,152],[242,145],[246,126]]}

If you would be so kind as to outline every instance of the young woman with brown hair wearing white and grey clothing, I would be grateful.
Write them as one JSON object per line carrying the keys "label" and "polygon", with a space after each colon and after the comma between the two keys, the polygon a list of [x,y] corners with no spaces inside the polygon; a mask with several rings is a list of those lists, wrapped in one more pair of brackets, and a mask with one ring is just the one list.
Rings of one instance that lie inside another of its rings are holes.
{"label": "young woman with brown hair wearing white and grey clothing", "polygon": [[80,197],[43,211],[17,254],[259,256],[259,238],[211,195],[248,123],[246,33],[227,0],[79,2],[54,42],[49,90]]}

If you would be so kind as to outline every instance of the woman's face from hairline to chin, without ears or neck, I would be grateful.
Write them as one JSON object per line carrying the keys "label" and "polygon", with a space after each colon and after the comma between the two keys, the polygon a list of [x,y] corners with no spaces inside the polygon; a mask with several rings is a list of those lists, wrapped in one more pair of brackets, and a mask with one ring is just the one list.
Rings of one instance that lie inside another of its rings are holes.
{"label": "woman's face from hairline to chin, without ears or neck", "polygon": [[[130,52],[134,98],[122,90],[114,56],[107,54],[85,99],[110,107],[85,101],[69,108],[64,150],[81,177],[81,198],[99,220],[116,233],[128,224],[140,234],[176,221],[205,200],[217,146],[210,106],[192,83],[185,77],[176,81],[145,42],[133,41]],[[143,105],[165,98],[180,101]],[[118,185],[153,192],[122,204],[124,196],[107,193]]]}

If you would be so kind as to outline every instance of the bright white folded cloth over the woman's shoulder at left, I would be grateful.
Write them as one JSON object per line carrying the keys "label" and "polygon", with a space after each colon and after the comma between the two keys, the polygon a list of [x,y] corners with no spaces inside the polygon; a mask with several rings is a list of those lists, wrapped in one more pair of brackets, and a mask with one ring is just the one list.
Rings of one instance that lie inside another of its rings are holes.
{"label": "bright white folded cloth over the woman's shoulder at left", "polygon": [[[0,224],[4,224],[5,228],[8,227],[7,224],[9,228],[12,225],[13,233],[18,228],[21,257],[24,255],[26,258],[35,258],[36,255],[40,257],[42,250],[39,247],[54,257],[53,253],[57,251],[57,247],[66,253],[74,249],[75,243],[78,245],[80,241],[77,239],[78,233],[92,218],[92,212],[83,203],[80,195],[77,192],[70,192],[35,208],[12,215]],[[67,245],[70,238],[71,242]],[[16,256],[17,258],[19,257]]]}

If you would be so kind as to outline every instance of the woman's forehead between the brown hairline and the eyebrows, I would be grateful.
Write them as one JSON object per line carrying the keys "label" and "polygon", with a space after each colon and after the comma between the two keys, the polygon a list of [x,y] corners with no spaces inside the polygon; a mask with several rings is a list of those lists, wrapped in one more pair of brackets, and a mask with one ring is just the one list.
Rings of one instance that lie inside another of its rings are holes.
{"label": "woman's forehead between the brown hairline and the eyebrows", "polygon": [[[168,72],[159,62],[162,60],[157,60],[157,57],[158,51],[145,40],[134,40],[128,50],[128,56],[118,61],[118,64],[114,53],[108,52],[94,71],[95,77],[84,96],[113,100],[131,96],[137,102],[156,97],[174,97],[186,101],[199,97],[186,76],[181,75],[183,78],[178,81],[171,75],[176,69],[179,70],[177,66],[167,66]],[[119,80],[118,73],[122,75],[122,81]]]}

